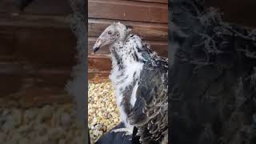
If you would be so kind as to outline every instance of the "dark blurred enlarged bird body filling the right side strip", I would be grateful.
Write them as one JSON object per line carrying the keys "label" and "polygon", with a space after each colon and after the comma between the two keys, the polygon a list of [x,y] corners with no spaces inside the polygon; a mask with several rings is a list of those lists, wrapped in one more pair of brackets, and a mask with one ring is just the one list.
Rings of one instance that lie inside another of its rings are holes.
{"label": "dark blurred enlarged bird body filling the right side strip", "polygon": [[170,142],[255,143],[256,30],[204,0],[169,4]]}

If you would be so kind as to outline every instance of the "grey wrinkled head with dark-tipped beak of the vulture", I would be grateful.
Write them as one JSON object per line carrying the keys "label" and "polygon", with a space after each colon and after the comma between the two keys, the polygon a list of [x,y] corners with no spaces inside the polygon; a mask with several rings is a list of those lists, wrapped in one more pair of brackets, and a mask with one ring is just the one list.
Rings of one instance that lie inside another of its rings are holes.
{"label": "grey wrinkled head with dark-tipped beak of the vulture", "polygon": [[125,26],[120,22],[113,23],[97,38],[93,50],[96,52],[102,46],[113,45],[116,42],[122,42],[130,32],[130,26]]}

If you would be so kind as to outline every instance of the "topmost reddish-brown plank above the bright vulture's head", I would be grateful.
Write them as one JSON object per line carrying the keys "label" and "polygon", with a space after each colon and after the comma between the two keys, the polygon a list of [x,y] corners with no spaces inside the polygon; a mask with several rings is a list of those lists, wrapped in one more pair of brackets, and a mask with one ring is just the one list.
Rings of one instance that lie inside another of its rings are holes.
{"label": "topmost reddish-brown plank above the bright vulture's head", "polygon": [[89,0],[89,18],[168,23],[168,5],[149,2]]}

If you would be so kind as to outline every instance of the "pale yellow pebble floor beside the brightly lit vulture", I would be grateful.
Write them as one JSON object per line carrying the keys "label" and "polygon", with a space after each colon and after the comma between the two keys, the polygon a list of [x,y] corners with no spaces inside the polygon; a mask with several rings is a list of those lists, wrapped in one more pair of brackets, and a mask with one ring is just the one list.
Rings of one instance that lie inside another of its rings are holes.
{"label": "pale yellow pebble floor beside the brightly lit vulture", "polygon": [[117,126],[120,118],[114,98],[114,89],[110,82],[90,82],[88,97],[90,142],[94,143],[106,131]]}

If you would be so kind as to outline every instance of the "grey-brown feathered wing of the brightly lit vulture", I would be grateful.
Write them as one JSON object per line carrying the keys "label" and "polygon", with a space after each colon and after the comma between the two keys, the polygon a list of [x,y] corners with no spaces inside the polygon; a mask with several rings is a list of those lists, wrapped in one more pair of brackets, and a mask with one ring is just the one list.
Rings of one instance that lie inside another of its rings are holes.
{"label": "grey-brown feathered wing of the brightly lit vulture", "polygon": [[165,66],[144,66],[141,72],[137,100],[128,118],[130,124],[138,128],[142,143],[161,141],[167,135],[167,75]]}

